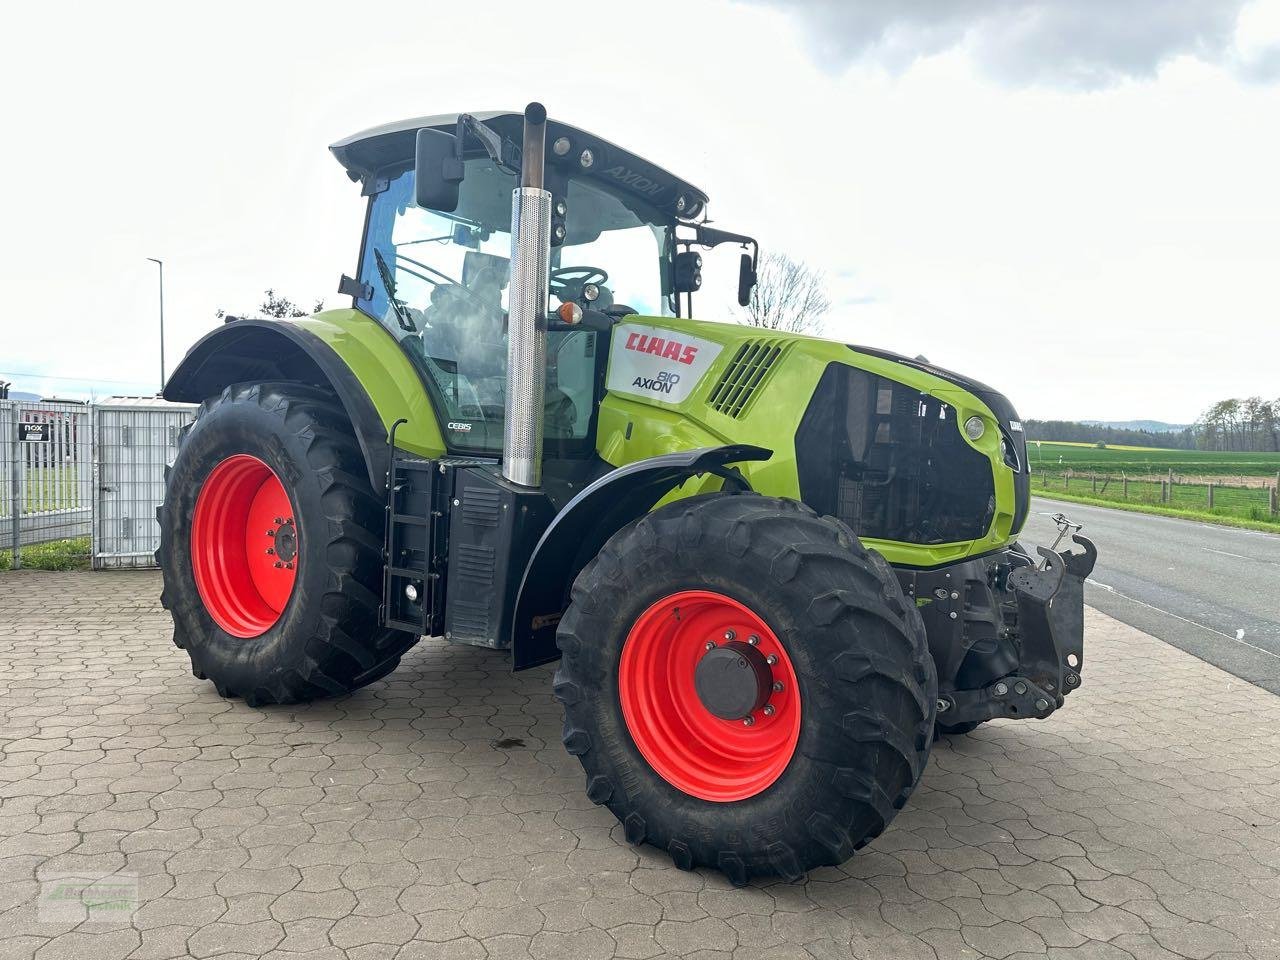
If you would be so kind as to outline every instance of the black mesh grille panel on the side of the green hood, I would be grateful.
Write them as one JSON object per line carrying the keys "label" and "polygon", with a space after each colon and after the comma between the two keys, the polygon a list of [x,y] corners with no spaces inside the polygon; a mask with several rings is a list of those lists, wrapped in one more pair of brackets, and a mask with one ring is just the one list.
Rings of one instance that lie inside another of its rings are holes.
{"label": "black mesh grille panel on the side of the green hood", "polygon": [[859,536],[977,540],[996,509],[991,461],[960,436],[936,397],[831,364],[796,430],[800,495]]}

